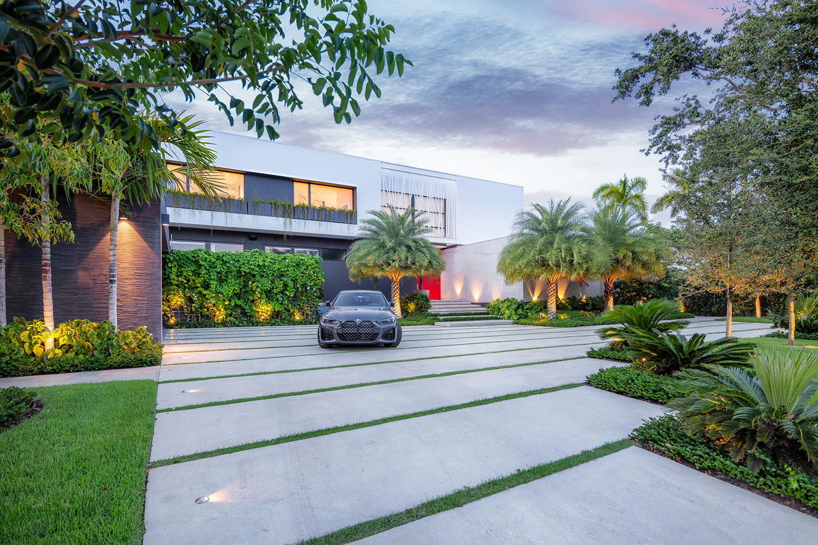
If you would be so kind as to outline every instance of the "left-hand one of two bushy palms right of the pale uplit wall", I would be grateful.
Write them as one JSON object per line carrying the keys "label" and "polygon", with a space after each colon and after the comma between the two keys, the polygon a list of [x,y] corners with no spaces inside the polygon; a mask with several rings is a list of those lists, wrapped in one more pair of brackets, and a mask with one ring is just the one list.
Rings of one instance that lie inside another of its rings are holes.
{"label": "left-hand one of two bushy palms right of the pale uplit wall", "polygon": [[557,281],[593,275],[598,261],[584,234],[582,204],[570,200],[551,199],[548,206],[533,203],[532,210],[520,211],[497,260],[506,284],[529,278],[546,282],[549,319],[557,312]]}

